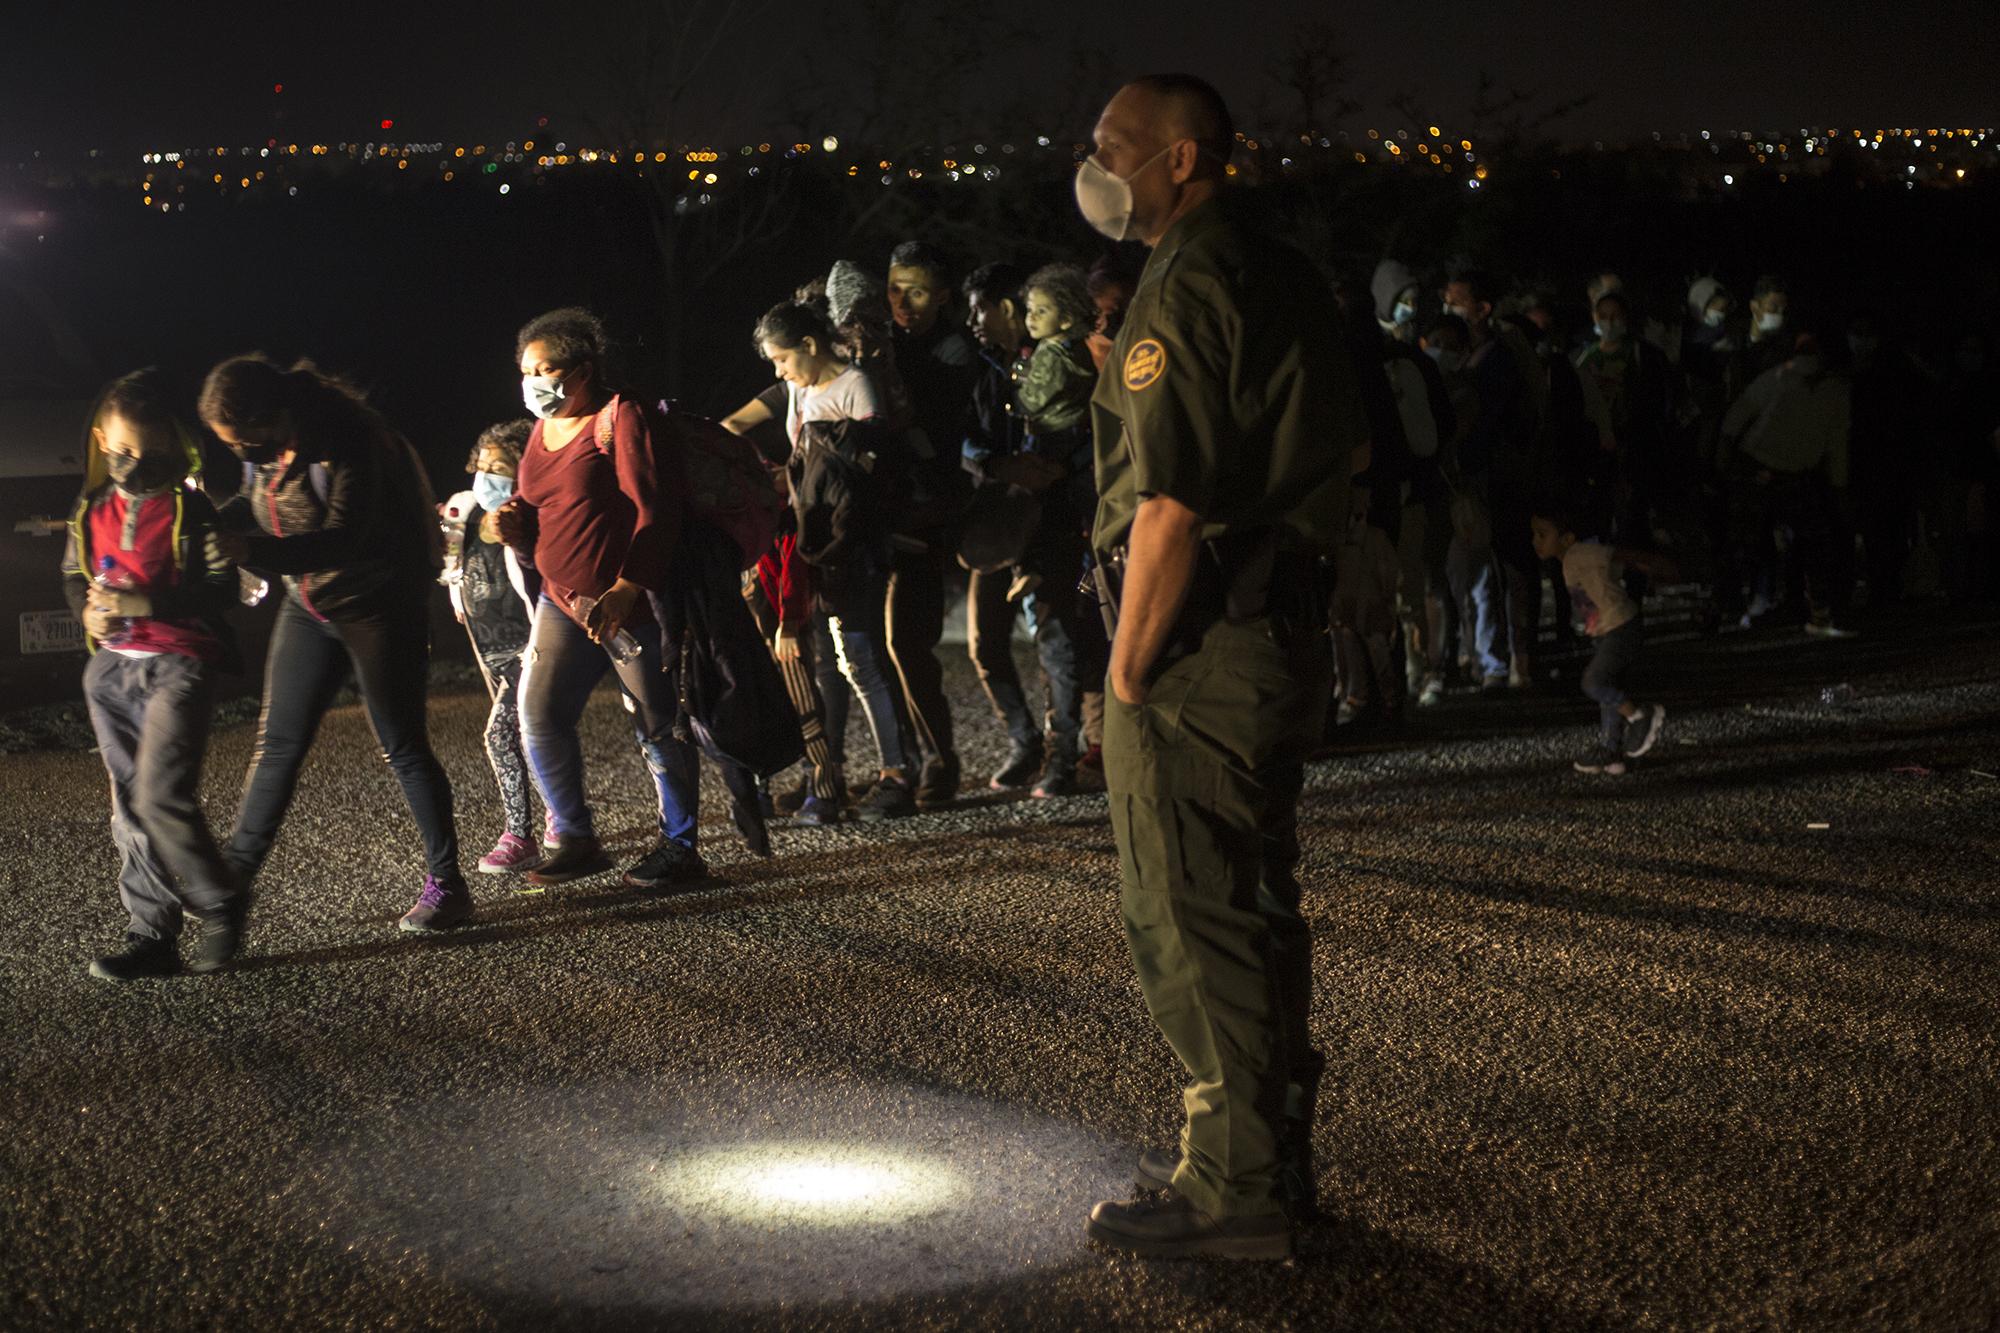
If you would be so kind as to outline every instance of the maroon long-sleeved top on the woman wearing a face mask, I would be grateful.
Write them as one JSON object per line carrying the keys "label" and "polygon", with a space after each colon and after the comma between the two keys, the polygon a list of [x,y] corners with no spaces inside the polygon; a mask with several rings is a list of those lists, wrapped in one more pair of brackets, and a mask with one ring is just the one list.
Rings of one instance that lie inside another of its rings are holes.
{"label": "maroon long-sleeved top on the woman wearing a face mask", "polygon": [[[534,510],[534,566],[564,610],[578,592],[604,596],[618,578],[658,592],[680,538],[680,468],[662,458],[636,404],[612,398],[562,448],[536,422],[514,494]],[[648,624],[640,600],[632,624]]]}

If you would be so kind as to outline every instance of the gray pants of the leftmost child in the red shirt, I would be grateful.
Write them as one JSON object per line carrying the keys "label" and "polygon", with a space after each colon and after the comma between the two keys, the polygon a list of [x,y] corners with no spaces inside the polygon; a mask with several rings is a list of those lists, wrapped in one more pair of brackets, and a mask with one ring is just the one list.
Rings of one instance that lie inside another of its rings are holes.
{"label": "gray pants of the leftmost child in the red shirt", "polygon": [[210,669],[192,656],[100,650],[84,701],[112,779],[118,897],[134,935],[174,939],[182,909],[206,917],[242,889],[202,815],[202,757],[214,719]]}

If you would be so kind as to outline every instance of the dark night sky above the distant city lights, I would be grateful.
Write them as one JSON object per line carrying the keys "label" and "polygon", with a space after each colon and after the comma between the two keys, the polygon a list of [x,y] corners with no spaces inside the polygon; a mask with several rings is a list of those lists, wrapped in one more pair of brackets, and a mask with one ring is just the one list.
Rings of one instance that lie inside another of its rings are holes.
{"label": "dark night sky above the distant city lights", "polygon": [[[714,12],[724,0],[696,8]],[[532,134],[544,114],[554,128],[584,138],[602,106],[604,52],[618,46],[628,10],[622,0],[40,6],[32,22],[10,22],[0,42],[0,150],[376,138],[384,118],[396,122],[388,136],[396,140],[508,138]],[[1590,94],[1592,104],[1558,126],[1574,140],[1720,126],[2000,120],[1990,76],[2000,54],[1996,0],[1010,0],[978,68],[958,86],[996,106],[1024,94],[1062,122],[1076,114],[1066,108],[1090,100],[1070,86],[1068,52],[1100,50],[1116,72],[1208,74],[1238,116],[1254,120],[1268,86],[1264,70],[1288,24],[1304,14],[1330,18],[1342,34],[1350,94],[1364,106],[1348,118],[1354,126],[1398,122],[1386,104],[1400,92],[1428,116],[1456,120],[1482,68],[1548,100]],[[1000,38],[1002,24],[1016,28],[1012,42]],[[856,96],[846,74],[856,44],[880,48],[850,8],[768,4],[710,64],[690,134],[770,128],[786,104],[832,108],[826,114],[840,120],[838,108]],[[908,40],[894,60],[922,64],[928,52],[928,42]],[[816,74],[820,86],[798,78],[800,70]],[[272,94],[278,82],[282,96]],[[1078,138],[1088,132],[1088,124],[1048,128]]]}

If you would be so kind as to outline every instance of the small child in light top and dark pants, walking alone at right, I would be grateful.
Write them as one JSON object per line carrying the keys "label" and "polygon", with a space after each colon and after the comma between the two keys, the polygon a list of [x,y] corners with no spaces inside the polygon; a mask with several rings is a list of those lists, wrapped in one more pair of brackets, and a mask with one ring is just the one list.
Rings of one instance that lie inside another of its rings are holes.
{"label": "small child in light top and dark pants, walking alone at right", "polygon": [[1584,695],[1598,701],[1598,743],[1576,761],[1578,773],[1622,775],[1628,761],[1660,743],[1666,709],[1636,705],[1624,693],[1626,673],[1646,642],[1638,602],[1620,582],[1620,564],[1646,566],[1650,556],[1580,540],[1558,504],[1538,504],[1532,518],[1534,554],[1562,560],[1562,582],[1596,644],[1584,669]]}

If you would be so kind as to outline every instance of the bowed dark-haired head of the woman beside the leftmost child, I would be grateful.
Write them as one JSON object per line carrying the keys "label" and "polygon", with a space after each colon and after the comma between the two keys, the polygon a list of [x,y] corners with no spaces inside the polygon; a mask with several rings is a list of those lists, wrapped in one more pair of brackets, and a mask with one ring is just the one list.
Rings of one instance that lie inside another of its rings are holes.
{"label": "bowed dark-haired head of the woman beside the leftmost child", "polygon": [[356,386],[310,360],[286,370],[262,352],[230,356],[210,370],[196,410],[238,458],[258,464],[284,450],[318,458],[332,434],[386,432]]}

